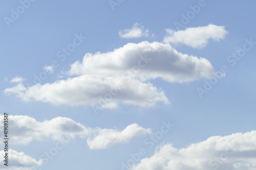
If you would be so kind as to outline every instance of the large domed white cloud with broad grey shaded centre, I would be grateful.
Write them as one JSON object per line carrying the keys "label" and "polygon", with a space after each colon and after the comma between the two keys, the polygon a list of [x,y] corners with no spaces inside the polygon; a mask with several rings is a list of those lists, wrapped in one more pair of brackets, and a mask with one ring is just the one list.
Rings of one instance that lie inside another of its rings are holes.
{"label": "large domed white cloud with broad grey shaded centre", "polygon": [[205,58],[177,52],[160,42],[128,43],[108,53],[86,54],[71,65],[71,75],[125,76],[146,81],[162,78],[168,82],[191,82],[210,78],[214,68]]}

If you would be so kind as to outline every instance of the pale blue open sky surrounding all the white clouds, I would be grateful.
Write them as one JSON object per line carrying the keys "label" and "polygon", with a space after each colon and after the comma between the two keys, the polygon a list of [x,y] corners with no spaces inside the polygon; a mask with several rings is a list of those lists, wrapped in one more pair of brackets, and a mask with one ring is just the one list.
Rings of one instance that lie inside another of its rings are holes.
{"label": "pale blue open sky surrounding all the white clouds", "polygon": [[[225,26],[228,31],[225,39],[209,40],[207,46],[195,49],[183,44],[172,45],[178,52],[206,58],[220,70],[227,65],[229,72],[218,81],[208,93],[200,98],[198,87],[203,87],[204,79],[190,83],[169,83],[162,79],[151,80],[161,88],[170,103],[157,103],[153,108],[140,108],[120,104],[117,109],[103,109],[98,114],[89,106],[53,105],[44,102],[24,102],[15,94],[4,93],[17,83],[10,80],[15,76],[33,83],[34,75],[43,71],[45,65],[56,60],[59,66],[54,74],[48,75],[41,84],[53,83],[60,72],[66,72],[75,61],[81,61],[86,53],[113,51],[129,42],[162,42],[165,29],[176,30],[174,22],[181,22],[181,14],[186,14],[190,5],[199,1],[127,1],[116,6],[113,11],[109,1],[35,1],[23,14],[7,27],[4,17],[11,16],[11,9],[20,3],[2,1],[0,3],[0,112],[10,115],[28,115],[38,121],[57,116],[69,117],[87,127],[124,129],[137,123],[144,128],[159,131],[163,120],[170,120],[175,126],[156,143],[173,143],[183,148],[190,143],[203,141],[210,136],[230,135],[237,132],[255,130],[256,119],[256,46],[231,66],[227,58],[243,47],[245,39],[255,35],[254,1],[208,1],[204,8],[189,21],[185,28],[207,26],[212,23]],[[132,39],[120,38],[120,30],[141,23],[149,29],[152,37]],[[184,29],[185,29],[184,28]],[[176,30],[178,31],[178,30]],[[61,61],[57,52],[73,42],[75,34],[87,37],[76,50]],[[5,81],[7,80],[8,81]],[[12,126],[12,125],[10,125]],[[10,132],[11,133],[11,132]],[[86,139],[75,138],[59,151],[49,164],[42,169],[121,169],[121,162],[129,159],[130,153],[144,147],[144,139],[137,138],[129,143],[118,144],[105,150],[90,150]],[[28,145],[10,144],[10,148],[39,160],[39,156],[53,147],[55,141],[33,141]],[[3,146],[3,145],[2,145]],[[154,149],[148,149],[144,157],[151,157]],[[11,163],[11,162],[10,162]]]}

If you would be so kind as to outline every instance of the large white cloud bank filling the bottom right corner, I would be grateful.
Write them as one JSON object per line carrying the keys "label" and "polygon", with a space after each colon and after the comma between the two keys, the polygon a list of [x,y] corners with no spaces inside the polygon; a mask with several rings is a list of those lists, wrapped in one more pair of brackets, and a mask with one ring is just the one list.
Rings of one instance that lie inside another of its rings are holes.
{"label": "large white cloud bank filling the bottom right corner", "polygon": [[144,158],[132,170],[240,170],[256,169],[256,131],[213,136],[205,141],[176,149],[164,144],[154,156]]}

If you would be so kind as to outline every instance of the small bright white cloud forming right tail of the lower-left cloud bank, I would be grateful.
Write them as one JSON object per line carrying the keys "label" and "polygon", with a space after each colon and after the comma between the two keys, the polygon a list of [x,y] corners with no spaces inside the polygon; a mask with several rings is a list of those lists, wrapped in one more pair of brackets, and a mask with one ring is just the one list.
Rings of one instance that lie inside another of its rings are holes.
{"label": "small bright white cloud forming right tail of the lower-left cloud bank", "polygon": [[96,136],[87,139],[90,149],[105,149],[115,143],[131,141],[136,136],[151,134],[151,129],[144,129],[138,124],[129,125],[122,131],[116,129],[98,129],[96,131]]}

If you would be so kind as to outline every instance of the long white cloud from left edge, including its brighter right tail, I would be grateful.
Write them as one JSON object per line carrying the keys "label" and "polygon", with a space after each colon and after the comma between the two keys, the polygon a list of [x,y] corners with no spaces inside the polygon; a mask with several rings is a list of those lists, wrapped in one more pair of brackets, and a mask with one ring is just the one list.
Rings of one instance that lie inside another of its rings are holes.
{"label": "long white cloud from left edge, including its brighter right tail", "polygon": [[[88,138],[90,149],[106,149],[113,145],[129,142],[132,139],[151,133],[137,124],[127,126],[124,130],[89,128],[71,118],[55,117],[38,122],[26,115],[9,115],[10,136],[13,144],[28,144],[33,140],[65,140],[76,136]],[[0,122],[3,126],[3,122]]]}

